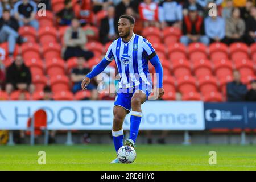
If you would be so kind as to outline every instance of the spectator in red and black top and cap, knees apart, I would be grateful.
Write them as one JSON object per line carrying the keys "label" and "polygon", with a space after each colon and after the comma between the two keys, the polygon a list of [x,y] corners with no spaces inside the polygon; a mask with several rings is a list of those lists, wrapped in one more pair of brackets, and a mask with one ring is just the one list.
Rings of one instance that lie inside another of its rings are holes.
{"label": "spectator in red and black top and cap, knees apart", "polygon": [[188,16],[183,20],[183,36],[180,42],[186,46],[191,42],[209,44],[209,38],[204,35],[204,19],[197,14],[196,6],[189,7]]}

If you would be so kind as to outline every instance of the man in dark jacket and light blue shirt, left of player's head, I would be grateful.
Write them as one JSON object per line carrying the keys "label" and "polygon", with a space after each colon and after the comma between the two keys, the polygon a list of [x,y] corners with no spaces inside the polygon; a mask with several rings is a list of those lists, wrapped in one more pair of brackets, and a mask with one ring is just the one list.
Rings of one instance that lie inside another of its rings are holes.
{"label": "man in dark jacket and light blue shirt, left of player's head", "polygon": [[108,16],[101,20],[100,38],[102,44],[108,43],[118,38],[117,19],[115,18],[114,6],[108,7]]}

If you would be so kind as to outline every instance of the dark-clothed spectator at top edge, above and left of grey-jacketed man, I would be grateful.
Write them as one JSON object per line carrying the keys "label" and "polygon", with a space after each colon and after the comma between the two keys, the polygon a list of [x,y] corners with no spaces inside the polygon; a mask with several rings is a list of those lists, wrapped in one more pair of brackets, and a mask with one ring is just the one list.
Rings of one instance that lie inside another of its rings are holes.
{"label": "dark-clothed spectator at top edge, above and left of grey-jacketed man", "polygon": [[75,13],[73,11],[72,1],[65,0],[65,7],[63,10],[60,10],[56,16],[59,18],[60,25],[70,25],[71,20],[75,18]]}

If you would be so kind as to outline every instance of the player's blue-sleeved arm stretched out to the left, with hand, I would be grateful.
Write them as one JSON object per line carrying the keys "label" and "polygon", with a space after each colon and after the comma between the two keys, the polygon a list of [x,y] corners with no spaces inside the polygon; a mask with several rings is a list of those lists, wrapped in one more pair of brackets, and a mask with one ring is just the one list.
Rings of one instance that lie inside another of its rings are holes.
{"label": "player's blue-sleeved arm stretched out to the left, with hand", "polygon": [[82,90],[86,90],[86,87],[90,83],[90,80],[93,77],[96,77],[101,72],[103,72],[104,69],[113,60],[112,45],[113,45],[113,43],[109,46],[108,51],[106,52],[105,57],[100,61],[100,63],[98,63],[96,65],[96,67],[94,67],[93,70],[85,76],[84,80],[82,80],[82,83],[81,83]]}

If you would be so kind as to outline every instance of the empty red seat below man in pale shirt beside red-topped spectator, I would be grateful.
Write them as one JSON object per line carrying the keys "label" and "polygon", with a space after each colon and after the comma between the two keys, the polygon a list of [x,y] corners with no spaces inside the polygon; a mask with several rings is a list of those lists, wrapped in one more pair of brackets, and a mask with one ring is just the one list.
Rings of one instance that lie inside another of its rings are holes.
{"label": "empty red seat below man in pale shirt beside red-topped spectator", "polygon": [[228,59],[228,46],[224,43],[212,43],[209,46],[209,54],[210,59],[221,60],[221,59]]}

